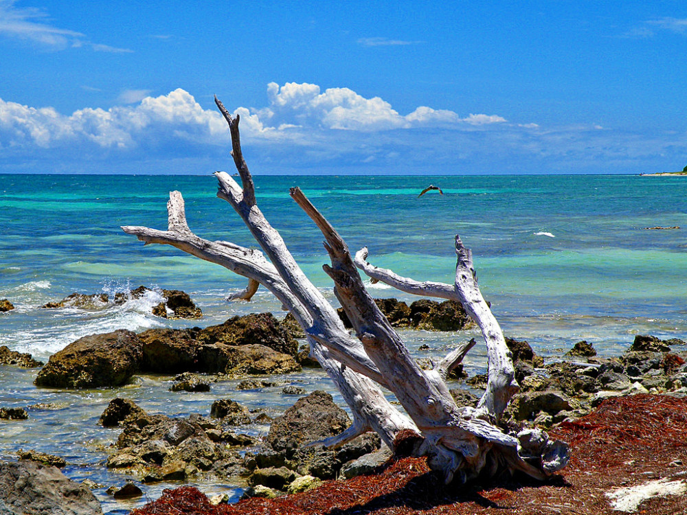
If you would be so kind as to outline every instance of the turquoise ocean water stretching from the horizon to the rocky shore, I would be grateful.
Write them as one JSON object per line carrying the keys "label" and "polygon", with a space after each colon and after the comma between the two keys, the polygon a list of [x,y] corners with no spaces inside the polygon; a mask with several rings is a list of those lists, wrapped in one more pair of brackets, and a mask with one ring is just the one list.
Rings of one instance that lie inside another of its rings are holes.
{"label": "turquoise ocean water stretching from the horizon to the rocky shore", "polygon": [[[603,356],[622,353],[635,334],[687,338],[687,177],[680,176],[256,176],[258,204],[325,295],[335,302],[322,236],[289,198],[300,186],[333,223],[352,251],[367,246],[370,262],[396,273],[453,282],[453,238],[473,250],[482,293],[507,336],[526,339],[555,359],[587,340]],[[431,191],[418,198],[429,184]],[[191,229],[203,238],[254,247],[232,208],[216,198],[208,176],[0,175],[0,299],[15,310],[0,313],[0,345],[47,361],[81,336],[115,329],[221,323],[234,314],[271,311],[280,304],[263,290],[251,302],[225,297],[245,279],[124,234],[122,225],[166,228],[166,201],[182,192]],[[648,230],[647,227],[681,227]],[[369,284],[374,297],[412,297]],[[100,310],[42,309],[70,293],[117,293],[145,285],[181,289],[203,310],[194,321],[153,317],[155,295]],[[403,331],[412,351],[422,344],[442,356],[473,331]],[[475,347],[466,369],[484,371]],[[36,370],[0,366],[0,407],[29,408],[25,421],[0,421],[0,459],[19,448],[65,457],[67,476],[101,483],[104,510],[125,513],[156,499],[170,484],[144,485],[144,498],[115,503],[104,490],[121,485],[121,472],[105,470],[107,447],[119,431],[97,425],[107,402],[126,396],[168,415],[207,415],[216,398],[278,415],[295,398],[281,388],[236,391],[214,383],[210,393],[172,393],[170,377],[142,376],[117,389],[37,389]],[[318,371],[280,378],[306,390],[333,387]],[[264,434],[268,426],[243,431]],[[201,490],[229,492],[240,484],[207,479]]]}

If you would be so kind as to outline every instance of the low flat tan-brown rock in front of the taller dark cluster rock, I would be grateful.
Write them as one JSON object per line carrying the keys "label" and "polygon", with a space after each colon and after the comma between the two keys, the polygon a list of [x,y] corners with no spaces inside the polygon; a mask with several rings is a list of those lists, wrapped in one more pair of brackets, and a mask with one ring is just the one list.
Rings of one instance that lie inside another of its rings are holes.
{"label": "low flat tan-brown rock in front of the taller dark cluster rock", "polygon": [[199,348],[198,363],[202,371],[210,374],[223,372],[229,376],[289,374],[301,369],[293,356],[257,344],[203,345]]}

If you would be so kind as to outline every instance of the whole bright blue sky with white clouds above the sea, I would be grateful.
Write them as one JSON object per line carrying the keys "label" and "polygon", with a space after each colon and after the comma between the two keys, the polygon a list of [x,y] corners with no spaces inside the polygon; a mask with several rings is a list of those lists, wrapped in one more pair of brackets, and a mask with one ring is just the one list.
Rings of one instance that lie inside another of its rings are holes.
{"label": "whole bright blue sky with white clouds above the sea", "polygon": [[[450,5],[449,5],[450,4]],[[682,1],[0,0],[0,172],[687,164]]]}

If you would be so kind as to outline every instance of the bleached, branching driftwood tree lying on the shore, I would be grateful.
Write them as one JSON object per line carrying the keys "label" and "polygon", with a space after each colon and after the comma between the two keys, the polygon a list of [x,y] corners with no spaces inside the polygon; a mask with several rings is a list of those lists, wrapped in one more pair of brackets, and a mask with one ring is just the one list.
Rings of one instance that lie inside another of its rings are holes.
{"label": "bleached, branching driftwood tree lying on the shore", "polygon": [[[217,172],[217,196],[232,205],[267,258],[259,251],[230,242],[210,242],[196,236],[186,224],[179,192],[170,193],[167,231],[147,227],[122,229],[146,244],[170,244],[221,264],[249,279],[246,290],[234,298],[249,299],[260,284],[293,314],[306,332],[311,356],[333,379],[354,419],[352,426],[341,435],[315,443],[337,446],[366,431],[375,431],[393,448],[394,442],[399,441],[397,437],[417,435],[420,443],[414,452],[426,455],[429,466],[441,472],[447,482],[454,478],[464,481],[482,472],[495,473],[504,467],[543,479],[563,468],[567,464],[567,445],[563,442],[551,442],[539,430],[513,435],[497,426],[518,386],[501,328],[482,298],[471,252],[460,238],[455,238],[458,256],[455,284],[416,282],[370,265],[366,261],[366,249],[359,251],[354,261],[337,231],[298,188],[293,188],[291,197],[326,240],[331,265],[325,265],[324,270],[334,280],[335,295],[352,322],[356,336],[350,335],[333,306],[296,264],[278,231],[264,218],[241,151],[240,118],[237,115],[234,119],[218,100],[216,104],[229,124],[232,156],[242,183],[239,185],[225,172]],[[400,290],[462,302],[480,326],[488,351],[488,386],[476,409],[458,407],[444,382],[475,341],[459,345],[434,369],[420,369],[401,337],[368,295],[357,267],[373,280]],[[385,399],[380,386],[394,393],[407,416]]]}

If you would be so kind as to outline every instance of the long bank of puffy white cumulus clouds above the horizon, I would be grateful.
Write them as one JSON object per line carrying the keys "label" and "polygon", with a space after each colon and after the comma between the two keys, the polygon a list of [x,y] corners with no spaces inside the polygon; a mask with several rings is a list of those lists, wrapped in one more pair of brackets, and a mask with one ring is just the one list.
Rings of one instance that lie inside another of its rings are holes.
{"label": "long bank of puffy white cumulus clouds above the horizon", "polygon": [[[67,115],[0,100],[3,170],[169,173],[183,163],[183,171],[202,173],[231,165],[227,124],[214,106],[183,89],[124,91],[122,101],[130,102]],[[687,145],[687,135],[541,127],[429,106],[403,114],[382,98],[317,84],[271,83],[267,106],[234,114],[258,173],[650,171],[641,167]]]}

